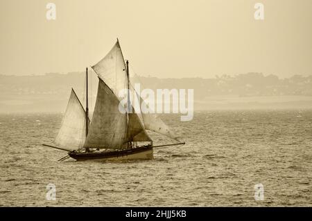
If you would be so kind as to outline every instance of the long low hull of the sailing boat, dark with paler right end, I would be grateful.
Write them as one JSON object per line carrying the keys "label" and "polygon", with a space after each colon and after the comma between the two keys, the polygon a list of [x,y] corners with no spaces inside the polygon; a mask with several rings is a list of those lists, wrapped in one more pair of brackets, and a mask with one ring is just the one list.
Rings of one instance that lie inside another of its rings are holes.
{"label": "long low hull of the sailing boat, dark with paler right end", "polygon": [[127,161],[153,159],[153,147],[137,147],[112,152],[69,152],[71,158],[77,161]]}

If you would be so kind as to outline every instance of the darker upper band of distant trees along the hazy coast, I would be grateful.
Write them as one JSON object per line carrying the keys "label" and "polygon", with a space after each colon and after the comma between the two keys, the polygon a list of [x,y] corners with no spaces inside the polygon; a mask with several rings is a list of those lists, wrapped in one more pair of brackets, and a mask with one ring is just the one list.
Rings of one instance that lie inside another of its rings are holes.
{"label": "darker upper band of distant trees along the hazy coast", "polygon": [[[92,80],[97,85],[97,78]],[[250,72],[230,76],[223,74],[212,79],[183,78],[158,79],[156,77],[140,76],[139,81],[133,79],[132,83],[143,83],[142,87],[156,89],[194,89],[197,99],[218,95],[239,96],[282,96],[304,95],[312,96],[312,75],[294,75],[288,79],[279,79],[274,74],[265,76],[262,73]],[[27,95],[29,94],[58,94],[67,95],[73,87],[78,93],[85,88],[85,74],[71,72],[69,74],[49,73],[40,76],[6,76],[0,75],[1,95]],[[94,91],[94,94],[96,90]]]}

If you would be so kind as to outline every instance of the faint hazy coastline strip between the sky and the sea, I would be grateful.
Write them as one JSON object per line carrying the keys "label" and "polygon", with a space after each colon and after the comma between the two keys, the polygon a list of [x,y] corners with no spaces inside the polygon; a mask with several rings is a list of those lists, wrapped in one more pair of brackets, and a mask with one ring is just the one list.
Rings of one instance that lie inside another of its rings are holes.
{"label": "faint hazy coastline strip between the sky and the sea", "polygon": [[[94,106],[98,80],[89,74],[89,105]],[[135,79],[133,80],[135,82]],[[211,79],[159,79],[141,76],[141,88],[194,89],[195,111],[234,109],[312,108],[312,75],[279,79],[262,73]],[[42,76],[0,75],[0,113],[63,112],[71,87],[85,104],[85,73]]]}

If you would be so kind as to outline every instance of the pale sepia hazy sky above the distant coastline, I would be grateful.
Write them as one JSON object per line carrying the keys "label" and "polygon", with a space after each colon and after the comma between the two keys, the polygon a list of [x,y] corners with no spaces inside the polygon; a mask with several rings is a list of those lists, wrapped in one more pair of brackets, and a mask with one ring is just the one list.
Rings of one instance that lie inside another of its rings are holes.
{"label": "pale sepia hazy sky above the distant coastline", "polygon": [[312,74],[311,0],[1,0],[0,10],[0,74],[83,71],[117,37],[144,76]]}

